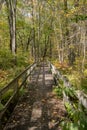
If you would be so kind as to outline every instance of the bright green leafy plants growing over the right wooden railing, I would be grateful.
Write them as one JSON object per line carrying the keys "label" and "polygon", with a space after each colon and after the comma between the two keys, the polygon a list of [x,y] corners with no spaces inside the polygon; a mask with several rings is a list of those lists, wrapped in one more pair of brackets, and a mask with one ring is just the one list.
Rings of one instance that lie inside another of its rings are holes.
{"label": "bright green leafy plants growing over the right wooden railing", "polygon": [[83,112],[82,107],[78,104],[78,99],[76,97],[75,88],[65,87],[63,81],[59,80],[59,86],[55,87],[54,92],[59,97],[63,97],[62,92],[69,97],[72,103],[65,103],[65,107],[68,113],[69,121],[62,122],[61,126],[63,130],[86,130],[87,128],[87,119],[86,115]]}

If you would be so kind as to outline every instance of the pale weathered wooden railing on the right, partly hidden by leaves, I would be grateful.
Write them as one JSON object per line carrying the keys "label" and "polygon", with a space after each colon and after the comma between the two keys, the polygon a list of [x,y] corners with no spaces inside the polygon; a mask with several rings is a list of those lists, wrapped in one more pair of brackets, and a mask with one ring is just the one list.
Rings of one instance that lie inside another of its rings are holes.
{"label": "pale weathered wooden railing on the right, partly hidden by leaves", "polygon": [[[56,83],[58,82],[59,79],[61,79],[65,87],[68,88],[72,87],[72,84],[69,82],[68,78],[63,76],[61,72],[53,64],[49,62],[49,66]],[[77,97],[79,104],[81,104],[85,109],[87,109],[87,95],[84,94],[82,91],[77,90],[75,96]],[[65,94],[65,92],[63,92],[63,99],[64,102],[70,103],[69,97]]]}

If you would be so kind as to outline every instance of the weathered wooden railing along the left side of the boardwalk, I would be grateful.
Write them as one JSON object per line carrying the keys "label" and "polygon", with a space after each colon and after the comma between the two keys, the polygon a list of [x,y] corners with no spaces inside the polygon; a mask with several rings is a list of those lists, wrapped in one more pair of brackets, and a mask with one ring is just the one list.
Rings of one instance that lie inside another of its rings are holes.
{"label": "weathered wooden railing along the left side of the boardwalk", "polygon": [[9,107],[11,101],[15,97],[18,97],[19,90],[25,86],[28,77],[30,76],[33,69],[36,67],[36,63],[33,63],[29,67],[27,67],[21,74],[19,74],[14,80],[12,80],[6,87],[0,90],[0,103],[2,104],[3,96],[9,91],[12,91],[12,95],[9,97],[7,102],[3,105],[3,109],[0,110],[0,120],[3,114],[6,112],[7,108]]}

